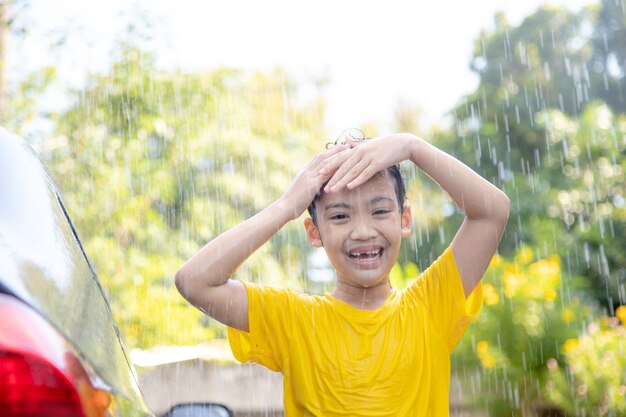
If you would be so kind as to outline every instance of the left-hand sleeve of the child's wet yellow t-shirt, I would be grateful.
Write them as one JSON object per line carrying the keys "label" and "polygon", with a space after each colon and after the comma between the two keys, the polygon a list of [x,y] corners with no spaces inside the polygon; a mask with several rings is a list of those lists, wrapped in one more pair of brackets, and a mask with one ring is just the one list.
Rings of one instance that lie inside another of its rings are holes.
{"label": "left-hand sleeve of the child's wet yellow t-shirt", "polygon": [[248,294],[249,332],[228,328],[228,341],[240,362],[255,362],[281,371],[287,349],[289,290],[242,281]]}

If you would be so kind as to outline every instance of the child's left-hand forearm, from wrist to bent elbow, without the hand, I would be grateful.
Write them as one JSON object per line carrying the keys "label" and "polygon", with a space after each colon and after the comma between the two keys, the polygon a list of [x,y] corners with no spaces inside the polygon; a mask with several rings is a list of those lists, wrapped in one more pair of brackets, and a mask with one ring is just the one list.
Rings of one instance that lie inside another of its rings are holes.
{"label": "child's left-hand forearm, from wrist to bent elbow, without the hand", "polygon": [[237,267],[289,220],[285,203],[278,200],[245,222],[220,234],[178,270],[178,288],[191,292],[226,283]]}

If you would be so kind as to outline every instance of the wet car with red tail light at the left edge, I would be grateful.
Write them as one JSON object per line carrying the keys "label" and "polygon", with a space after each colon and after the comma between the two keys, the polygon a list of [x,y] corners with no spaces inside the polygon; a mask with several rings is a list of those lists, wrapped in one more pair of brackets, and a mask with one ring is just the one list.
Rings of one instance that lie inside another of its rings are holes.
{"label": "wet car with red tail light at the left edge", "polygon": [[[232,415],[187,408],[186,416]],[[153,416],[54,182],[33,149],[3,128],[0,415]]]}

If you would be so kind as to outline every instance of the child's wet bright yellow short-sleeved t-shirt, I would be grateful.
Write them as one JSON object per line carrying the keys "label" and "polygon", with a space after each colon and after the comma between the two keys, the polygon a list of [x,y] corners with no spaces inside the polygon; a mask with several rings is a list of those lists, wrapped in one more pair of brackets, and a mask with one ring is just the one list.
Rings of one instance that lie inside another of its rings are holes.
{"label": "child's wet bright yellow short-sleeved t-shirt", "polygon": [[376,310],[330,294],[244,283],[250,332],[228,329],[235,358],[284,376],[285,415],[449,415],[450,353],[482,305],[465,299],[449,247]]}

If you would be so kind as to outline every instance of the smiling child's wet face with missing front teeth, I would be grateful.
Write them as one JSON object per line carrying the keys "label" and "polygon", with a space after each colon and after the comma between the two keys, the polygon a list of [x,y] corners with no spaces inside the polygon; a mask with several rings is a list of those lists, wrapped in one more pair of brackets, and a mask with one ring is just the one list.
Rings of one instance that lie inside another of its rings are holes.
{"label": "smiling child's wet face with missing front teeth", "polygon": [[398,207],[393,180],[379,173],[365,184],[323,193],[317,227],[307,223],[309,240],[323,246],[337,280],[369,288],[387,281],[400,241],[411,232],[411,211]]}

